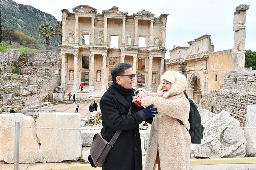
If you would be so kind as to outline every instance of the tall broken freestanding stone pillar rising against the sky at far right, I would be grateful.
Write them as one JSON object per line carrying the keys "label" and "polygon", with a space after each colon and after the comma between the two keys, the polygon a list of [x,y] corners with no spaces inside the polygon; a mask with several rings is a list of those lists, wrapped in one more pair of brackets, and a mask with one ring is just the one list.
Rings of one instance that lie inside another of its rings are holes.
{"label": "tall broken freestanding stone pillar rising against the sky at far right", "polygon": [[232,62],[230,71],[244,71],[245,70],[245,19],[246,10],[249,9],[249,5],[236,6],[233,19],[233,31],[234,31],[234,48],[232,53]]}

